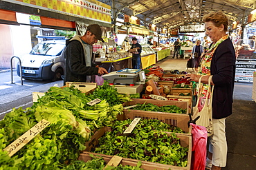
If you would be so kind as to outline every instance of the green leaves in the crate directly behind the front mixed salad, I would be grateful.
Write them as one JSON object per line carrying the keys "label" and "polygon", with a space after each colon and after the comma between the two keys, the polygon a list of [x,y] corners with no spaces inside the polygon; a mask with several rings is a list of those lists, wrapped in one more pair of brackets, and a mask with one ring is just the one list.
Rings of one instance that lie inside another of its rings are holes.
{"label": "green leaves in the crate directly behind the front mixed salad", "polygon": [[136,107],[132,107],[130,109],[136,110],[145,110],[145,111],[160,111],[160,112],[167,112],[167,113],[176,113],[176,114],[187,114],[187,109],[181,109],[176,105],[165,105],[165,106],[157,106],[152,103],[143,103],[143,104],[136,104]]}

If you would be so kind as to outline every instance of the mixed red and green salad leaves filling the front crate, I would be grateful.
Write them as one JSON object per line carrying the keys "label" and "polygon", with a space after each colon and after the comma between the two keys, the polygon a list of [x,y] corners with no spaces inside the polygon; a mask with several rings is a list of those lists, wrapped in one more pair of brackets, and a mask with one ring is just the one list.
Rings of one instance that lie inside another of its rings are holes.
{"label": "mixed red and green salad leaves filling the front crate", "polygon": [[138,124],[131,134],[123,134],[130,123],[130,120],[116,121],[112,131],[106,132],[99,139],[99,146],[94,152],[179,167],[187,166],[188,148],[181,147],[176,134],[168,136],[163,131],[152,130],[147,124],[144,124],[145,127]]}

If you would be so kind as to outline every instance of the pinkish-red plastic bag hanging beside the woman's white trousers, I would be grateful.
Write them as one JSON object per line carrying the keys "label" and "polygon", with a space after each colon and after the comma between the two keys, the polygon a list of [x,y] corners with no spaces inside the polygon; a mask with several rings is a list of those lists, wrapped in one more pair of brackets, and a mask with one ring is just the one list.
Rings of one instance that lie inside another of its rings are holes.
{"label": "pinkish-red plastic bag hanging beside the woman's white trousers", "polygon": [[192,126],[192,165],[193,170],[204,170],[206,163],[207,130],[205,127],[190,123]]}

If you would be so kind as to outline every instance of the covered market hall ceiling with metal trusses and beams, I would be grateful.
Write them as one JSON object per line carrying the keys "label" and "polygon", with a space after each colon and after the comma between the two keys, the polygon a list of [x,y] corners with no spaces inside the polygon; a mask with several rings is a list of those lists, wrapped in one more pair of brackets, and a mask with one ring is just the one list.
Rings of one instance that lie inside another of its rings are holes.
{"label": "covered market hall ceiling with metal trusses and beams", "polygon": [[202,23],[203,14],[222,10],[230,21],[241,21],[256,8],[255,0],[99,0],[113,3],[113,9],[138,17],[144,25],[177,28],[188,23]]}

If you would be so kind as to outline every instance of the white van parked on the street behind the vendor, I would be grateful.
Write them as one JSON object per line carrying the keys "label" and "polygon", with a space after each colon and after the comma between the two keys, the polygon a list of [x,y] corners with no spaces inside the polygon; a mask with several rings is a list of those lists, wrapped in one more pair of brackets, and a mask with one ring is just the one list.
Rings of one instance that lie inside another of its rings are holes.
{"label": "white van parked on the street behind the vendor", "polygon": [[[25,79],[53,80],[62,79],[65,70],[65,59],[62,56],[66,41],[50,40],[38,43],[29,54],[20,56],[21,74]],[[17,63],[17,74],[20,76]]]}

